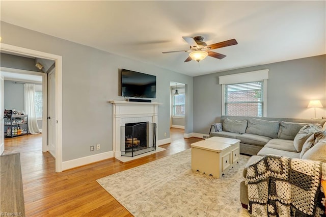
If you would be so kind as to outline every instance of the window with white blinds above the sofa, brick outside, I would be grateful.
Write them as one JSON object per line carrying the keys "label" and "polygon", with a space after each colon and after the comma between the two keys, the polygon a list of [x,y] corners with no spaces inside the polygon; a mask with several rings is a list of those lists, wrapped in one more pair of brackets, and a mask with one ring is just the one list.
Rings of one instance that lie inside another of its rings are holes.
{"label": "window with white blinds above the sofa, brick outside", "polygon": [[263,81],[224,85],[224,112],[231,116],[263,116]]}

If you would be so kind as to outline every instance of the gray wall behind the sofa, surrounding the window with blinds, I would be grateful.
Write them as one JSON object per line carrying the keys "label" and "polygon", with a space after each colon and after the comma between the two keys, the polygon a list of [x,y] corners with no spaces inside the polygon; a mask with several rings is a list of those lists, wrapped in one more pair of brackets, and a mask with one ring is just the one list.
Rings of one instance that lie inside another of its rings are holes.
{"label": "gray wall behind the sofa, surrounding the window with blinds", "polygon": [[[222,115],[222,85],[219,76],[269,69],[267,117],[313,118],[309,100],[325,103],[326,55],[224,71],[194,77],[194,132],[208,133]],[[316,116],[325,116],[316,108]]]}

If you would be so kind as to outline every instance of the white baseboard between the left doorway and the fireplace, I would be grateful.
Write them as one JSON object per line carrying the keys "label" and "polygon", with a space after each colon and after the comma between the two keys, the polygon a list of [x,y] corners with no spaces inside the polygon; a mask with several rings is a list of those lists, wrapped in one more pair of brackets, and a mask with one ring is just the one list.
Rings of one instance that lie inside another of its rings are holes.
{"label": "white baseboard between the left doorway and the fireplace", "polygon": [[80,157],[73,160],[67,160],[62,162],[62,170],[68,170],[75,167],[80,167],[88,164],[92,164],[93,162],[105,160],[108,158],[114,157],[113,151],[108,151],[104,153],[94,154],[86,157]]}

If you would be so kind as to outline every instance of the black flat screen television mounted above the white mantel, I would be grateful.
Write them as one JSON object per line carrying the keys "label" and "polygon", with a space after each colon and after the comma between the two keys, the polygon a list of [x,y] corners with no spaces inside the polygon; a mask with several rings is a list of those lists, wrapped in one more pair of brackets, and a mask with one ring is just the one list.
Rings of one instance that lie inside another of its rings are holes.
{"label": "black flat screen television mounted above the white mantel", "polygon": [[121,95],[156,98],[156,76],[121,69]]}

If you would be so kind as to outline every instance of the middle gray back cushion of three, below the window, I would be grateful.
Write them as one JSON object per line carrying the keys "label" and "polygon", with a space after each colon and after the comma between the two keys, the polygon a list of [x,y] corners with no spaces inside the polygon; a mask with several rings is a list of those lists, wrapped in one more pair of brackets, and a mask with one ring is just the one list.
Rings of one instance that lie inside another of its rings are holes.
{"label": "middle gray back cushion of three, below the window", "polygon": [[277,138],[279,127],[280,122],[278,121],[265,121],[256,118],[249,118],[246,132],[263,135],[264,137]]}

